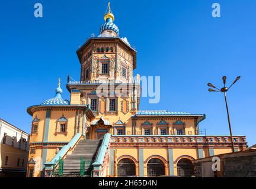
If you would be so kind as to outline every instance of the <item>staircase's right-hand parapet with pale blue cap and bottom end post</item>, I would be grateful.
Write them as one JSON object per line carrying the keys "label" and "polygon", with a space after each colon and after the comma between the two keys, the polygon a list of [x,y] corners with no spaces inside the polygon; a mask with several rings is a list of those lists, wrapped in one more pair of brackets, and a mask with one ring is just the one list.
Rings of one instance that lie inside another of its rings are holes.
{"label": "staircase's right-hand parapet with pale blue cap and bottom end post", "polygon": [[93,166],[93,177],[102,177],[103,172],[106,167],[107,158],[108,158],[108,149],[110,145],[110,133],[106,133],[103,142],[101,143],[101,146],[98,150],[97,157],[95,159],[95,162],[92,164]]}

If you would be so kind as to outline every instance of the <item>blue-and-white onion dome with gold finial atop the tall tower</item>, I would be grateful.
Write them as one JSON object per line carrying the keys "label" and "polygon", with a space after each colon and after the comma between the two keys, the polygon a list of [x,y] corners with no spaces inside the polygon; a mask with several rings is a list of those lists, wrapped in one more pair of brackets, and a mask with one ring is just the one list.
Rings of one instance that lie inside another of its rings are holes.
{"label": "blue-and-white onion dome with gold finial atop the tall tower", "polygon": [[103,31],[105,31],[105,30],[112,30],[112,31],[116,32],[117,35],[119,35],[119,28],[117,27],[116,24],[113,23],[114,14],[112,13],[111,8],[110,8],[110,2],[108,3],[108,8],[105,13],[104,19],[105,19],[105,23],[103,25],[101,25],[100,34],[102,34]]}

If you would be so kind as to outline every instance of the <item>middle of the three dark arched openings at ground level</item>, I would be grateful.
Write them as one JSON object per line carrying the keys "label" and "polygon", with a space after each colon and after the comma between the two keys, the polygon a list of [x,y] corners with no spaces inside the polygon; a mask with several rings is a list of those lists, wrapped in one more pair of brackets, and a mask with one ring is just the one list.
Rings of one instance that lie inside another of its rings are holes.
{"label": "middle of the three dark arched openings at ground level", "polygon": [[165,175],[164,163],[158,158],[152,158],[147,165],[148,177],[158,177]]}

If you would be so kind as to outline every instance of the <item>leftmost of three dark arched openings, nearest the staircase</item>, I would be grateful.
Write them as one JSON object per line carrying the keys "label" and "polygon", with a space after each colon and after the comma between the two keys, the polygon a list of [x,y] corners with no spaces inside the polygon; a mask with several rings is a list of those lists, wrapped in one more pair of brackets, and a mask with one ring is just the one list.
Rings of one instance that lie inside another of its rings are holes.
{"label": "leftmost of three dark arched openings, nearest the staircase", "polygon": [[117,177],[135,176],[135,162],[132,159],[124,158],[117,164]]}

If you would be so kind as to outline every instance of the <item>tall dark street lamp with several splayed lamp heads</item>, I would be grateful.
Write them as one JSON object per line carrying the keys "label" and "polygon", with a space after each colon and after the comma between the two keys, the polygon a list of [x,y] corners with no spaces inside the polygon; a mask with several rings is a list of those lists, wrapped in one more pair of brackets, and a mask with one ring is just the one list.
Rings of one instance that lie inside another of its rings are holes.
{"label": "tall dark street lamp with several splayed lamp heads", "polygon": [[213,89],[208,89],[209,92],[224,93],[225,102],[226,102],[226,111],[228,113],[229,131],[230,131],[230,134],[231,134],[232,152],[235,152],[235,148],[234,148],[234,145],[233,145],[233,135],[232,135],[232,130],[231,130],[231,122],[230,122],[230,118],[229,118],[229,110],[228,110],[228,102],[227,102],[227,99],[226,99],[226,92],[228,92],[228,90],[233,86],[233,84],[235,84],[240,78],[241,78],[240,76],[236,77],[235,81],[233,81],[231,86],[226,87],[226,76],[223,76],[222,80],[223,80],[224,87],[222,87],[221,89],[218,89],[212,83],[207,84],[209,87],[213,88]]}

